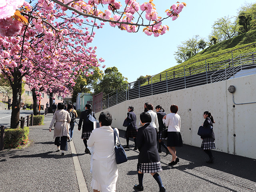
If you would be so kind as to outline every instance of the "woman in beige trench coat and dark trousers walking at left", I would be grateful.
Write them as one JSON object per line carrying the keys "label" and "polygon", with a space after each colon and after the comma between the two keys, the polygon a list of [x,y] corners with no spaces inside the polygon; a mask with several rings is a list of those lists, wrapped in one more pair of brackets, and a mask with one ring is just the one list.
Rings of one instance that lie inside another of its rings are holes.
{"label": "woman in beige trench coat and dark trousers walking at left", "polygon": [[64,110],[64,103],[58,103],[58,110],[52,117],[49,131],[51,132],[52,126],[54,126],[54,144],[57,146],[57,152],[62,150],[62,155],[64,155],[64,151],[68,150],[70,121],[69,113]]}

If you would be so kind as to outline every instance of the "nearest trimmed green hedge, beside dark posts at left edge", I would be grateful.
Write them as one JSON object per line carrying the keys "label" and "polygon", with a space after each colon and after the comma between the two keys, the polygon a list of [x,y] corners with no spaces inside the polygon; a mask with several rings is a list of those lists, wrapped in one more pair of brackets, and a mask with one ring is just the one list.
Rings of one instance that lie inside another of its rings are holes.
{"label": "nearest trimmed green hedge, beside dark posts at left edge", "polygon": [[4,148],[19,148],[28,142],[29,127],[4,130]]}

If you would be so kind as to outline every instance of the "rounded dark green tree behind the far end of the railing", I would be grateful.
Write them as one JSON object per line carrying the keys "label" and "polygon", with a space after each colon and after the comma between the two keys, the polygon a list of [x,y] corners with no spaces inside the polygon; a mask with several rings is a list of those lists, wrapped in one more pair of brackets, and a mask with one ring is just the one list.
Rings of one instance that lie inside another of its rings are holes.
{"label": "rounded dark green tree behind the far end of the railing", "polygon": [[98,94],[103,92],[104,94],[110,94],[117,89],[125,90],[127,84],[127,78],[122,76],[116,67],[109,67],[104,71],[104,75],[100,83],[94,87],[94,93]]}

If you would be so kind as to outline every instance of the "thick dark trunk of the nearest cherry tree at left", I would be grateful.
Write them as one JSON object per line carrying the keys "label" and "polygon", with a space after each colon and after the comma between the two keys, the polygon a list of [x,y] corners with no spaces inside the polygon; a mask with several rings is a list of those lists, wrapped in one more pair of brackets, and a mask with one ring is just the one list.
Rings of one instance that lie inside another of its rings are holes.
{"label": "thick dark trunk of the nearest cherry tree at left", "polygon": [[19,127],[20,121],[20,100],[21,100],[21,88],[22,78],[20,72],[16,72],[13,75],[12,86],[12,116],[11,116],[11,128],[15,129]]}

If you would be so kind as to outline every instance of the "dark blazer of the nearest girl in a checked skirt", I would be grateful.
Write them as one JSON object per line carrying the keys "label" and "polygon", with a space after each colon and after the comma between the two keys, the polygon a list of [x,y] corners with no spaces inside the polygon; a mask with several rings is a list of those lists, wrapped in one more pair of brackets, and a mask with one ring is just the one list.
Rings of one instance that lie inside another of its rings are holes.
{"label": "dark blazer of the nearest girl in a checked skirt", "polygon": [[152,163],[160,161],[156,144],[156,129],[149,123],[140,127],[137,132],[137,147],[140,151],[139,163]]}

